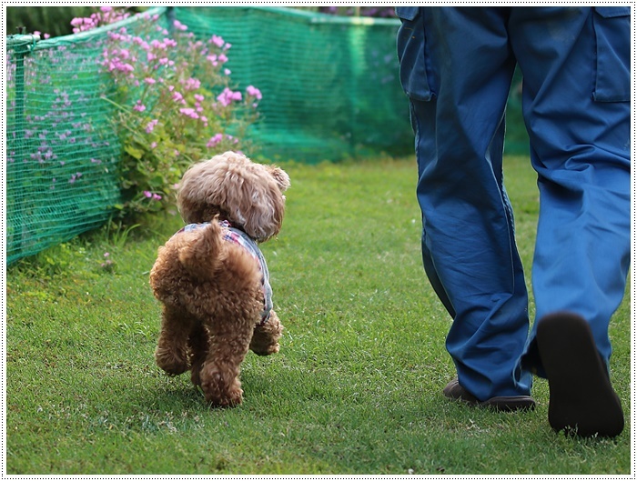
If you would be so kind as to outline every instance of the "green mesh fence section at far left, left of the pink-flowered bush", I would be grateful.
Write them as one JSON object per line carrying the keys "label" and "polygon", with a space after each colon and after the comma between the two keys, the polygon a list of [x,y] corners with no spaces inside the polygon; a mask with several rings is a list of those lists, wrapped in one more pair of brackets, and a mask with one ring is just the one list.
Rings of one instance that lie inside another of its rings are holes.
{"label": "green mesh fence section at far left, left of the pink-flowered bush", "polygon": [[108,30],[6,39],[7,264],[102,225],[119,200]]}

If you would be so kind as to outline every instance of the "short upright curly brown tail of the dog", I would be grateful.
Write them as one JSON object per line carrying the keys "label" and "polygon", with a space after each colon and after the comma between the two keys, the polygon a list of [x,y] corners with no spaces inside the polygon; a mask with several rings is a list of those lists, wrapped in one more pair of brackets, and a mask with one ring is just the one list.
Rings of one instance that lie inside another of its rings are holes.
{"label": "short upright curly brown tail of the dog", "polygon": [[179,262],[191,276],[207,279],[214,276],[221,265],[221,226],[215,218],[209,225],[197,229],[196,233],[193,240],[179,248]]}

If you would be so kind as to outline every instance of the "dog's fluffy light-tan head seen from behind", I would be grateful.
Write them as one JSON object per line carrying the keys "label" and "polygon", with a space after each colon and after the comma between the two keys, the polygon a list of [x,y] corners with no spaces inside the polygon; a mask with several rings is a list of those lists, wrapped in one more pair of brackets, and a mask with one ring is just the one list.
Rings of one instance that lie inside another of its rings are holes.
{"label": "dog's fluffy light-tan head seen from behind", "polygon": [[215,215],[263,242],[281,229],[289,177],[273,165],[235,152],[192,165],[181,179],[177,206],[184,221],[200,224]]}

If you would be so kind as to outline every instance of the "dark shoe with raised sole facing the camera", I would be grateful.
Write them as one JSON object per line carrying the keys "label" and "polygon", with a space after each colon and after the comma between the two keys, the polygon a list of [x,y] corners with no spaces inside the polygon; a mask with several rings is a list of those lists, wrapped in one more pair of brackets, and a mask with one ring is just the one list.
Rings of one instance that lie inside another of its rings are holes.
{"label": "dark shoe with raised sole facing the camera", "polygon": [[551,427],[577,436],[619,435],[622,403],[588,323],[571,313],[544,316],[538,321],[537,341],[551,390]]}

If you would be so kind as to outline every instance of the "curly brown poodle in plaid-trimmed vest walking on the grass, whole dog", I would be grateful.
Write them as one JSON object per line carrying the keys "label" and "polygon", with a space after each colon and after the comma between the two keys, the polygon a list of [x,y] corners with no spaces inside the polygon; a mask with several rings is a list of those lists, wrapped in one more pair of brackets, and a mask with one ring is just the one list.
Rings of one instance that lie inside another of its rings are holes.
{"label": "curly brown poodle in plaid-trimmed vest walking on the grass, whole dog", "polygon": [[187,226],[159,247],[150,285],[163,304],[155,360],[188,369],[212,406],[237,406],[248,349],[278,352],[283,326],[272,309],[268,267],[257,243],[277,235],[289,177],[234,152],[192,165],[177,206]]}

